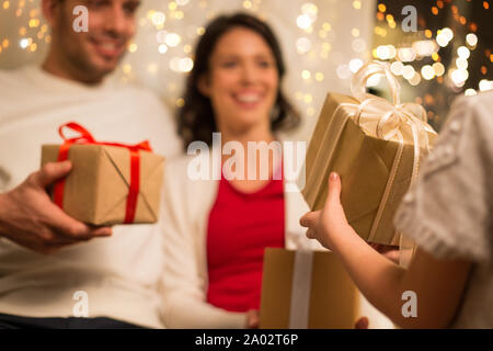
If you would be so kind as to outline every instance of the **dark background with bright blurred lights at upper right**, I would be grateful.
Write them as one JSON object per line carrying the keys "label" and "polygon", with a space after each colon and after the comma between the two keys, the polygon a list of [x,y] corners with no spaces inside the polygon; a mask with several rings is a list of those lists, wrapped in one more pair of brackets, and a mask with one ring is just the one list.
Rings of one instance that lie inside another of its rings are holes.
{"label": "dark background with bright blurred lights at upper right", "polygon": [[[493,89],[492,43],[480,41],[484,36],[481,31],[488,29],[480,29],[472,16],[473,4],[481,5],[480,12],[475,7],[477,19],[491,16],[490,1],[434,0],[421,4],[419,31],[404,33],[395,23],[394,15],[401,14],[395,13],[394,3],[379,0],[371,56],[389,63],[391,71],[413,87],[414,100],[425,106],[428,120],[439,128],[455,95]],[[371,83],[378,84],[378,80]]]}

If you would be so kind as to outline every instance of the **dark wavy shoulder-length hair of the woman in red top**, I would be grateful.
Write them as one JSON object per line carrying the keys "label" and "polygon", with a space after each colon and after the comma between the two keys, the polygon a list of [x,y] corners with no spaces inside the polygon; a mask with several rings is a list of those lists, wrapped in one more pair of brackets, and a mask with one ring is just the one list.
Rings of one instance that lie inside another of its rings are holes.
{"label": "dark wavy shoulder-length hair of the woman in red top", "polygon": [[177,132],[182,137],[184,147],[194,140],[202,140],[211,145],[213,133],[217,132],[214,110],[208,97],[198,91],[198,80],[209,71],[209,60],[218,39],[236,27],[245,27],[260,34],[274,55],[279,88],[271,118],[271,129],[291,129],[299,125],[300,116],[285,98],[280,90],[280,82],[285,75],[285,66],[279,44],[271,27],[261,20],[245,13],[220,15],[210,22],[195,48],[194,68],[186,80],[184,105],[177,110]]}

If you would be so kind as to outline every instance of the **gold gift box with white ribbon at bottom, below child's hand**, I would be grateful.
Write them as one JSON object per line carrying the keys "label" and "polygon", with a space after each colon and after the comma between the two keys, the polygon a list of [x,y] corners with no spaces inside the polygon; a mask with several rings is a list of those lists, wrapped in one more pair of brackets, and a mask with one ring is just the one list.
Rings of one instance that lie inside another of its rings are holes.
{"label": "gold gift box with white ribbon at bottom, below child's hand", "polygon": [[[265,250],[260,328],[354,328],[360,317],[359,292],[342,262],[330,251],[305,251],[308,261],[297,262],[299,253],[277,248]],[[296,273],[296,264],[310,265],[311,274]],[[301,281],[297,274],[302,275]],[[305,286],[300,286],[302,284]],[[299,291],[295,291],[299,288],[308,288],[307,295],[299,295]],[[307,297],[308,299],[303,301]],[[291,315],[296,313],[294,308],[305,310],[301,315]]]}

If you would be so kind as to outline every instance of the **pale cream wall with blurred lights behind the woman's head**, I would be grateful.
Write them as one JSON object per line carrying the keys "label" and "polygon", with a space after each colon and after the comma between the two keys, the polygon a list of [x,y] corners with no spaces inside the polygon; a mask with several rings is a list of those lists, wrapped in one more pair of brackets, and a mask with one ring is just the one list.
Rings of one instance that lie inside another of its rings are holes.
{"label": "pale cream wall with blurred lights behind the woman's head", "polygon": [[[43,60],[49,29],[39,3],[0,0],[0,69]],[[374,0],[144,0],[135,45],[115,78],[151,87],[173,109],[182,103],[187,58],[203,26],[219,13],[239,10],[266,20],[277,34],[288,68],[285,88],[303,116],[295,137],[308,139],[326,92],[349,92],[351,71],[340,69],[342,79],[337,67],[353,59],[355,69],[359,61],[354,59],[370,58]]]}

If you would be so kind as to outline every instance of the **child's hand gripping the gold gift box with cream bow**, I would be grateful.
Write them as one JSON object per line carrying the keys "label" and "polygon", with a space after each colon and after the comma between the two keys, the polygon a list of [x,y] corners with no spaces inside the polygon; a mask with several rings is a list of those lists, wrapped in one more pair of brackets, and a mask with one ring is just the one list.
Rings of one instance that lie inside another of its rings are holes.
{"label": "child's hand gripping the gold gift box with cream bow", "polygon": [[308,228],[308,238],[317,239],[332,250],[332,238],[349,226],[341,205],[341,178],[337,173],[332,172],[329,177],[329,192],[323,208],[305,214],[299,223]]}

